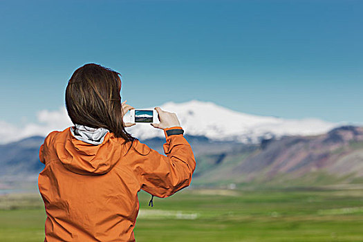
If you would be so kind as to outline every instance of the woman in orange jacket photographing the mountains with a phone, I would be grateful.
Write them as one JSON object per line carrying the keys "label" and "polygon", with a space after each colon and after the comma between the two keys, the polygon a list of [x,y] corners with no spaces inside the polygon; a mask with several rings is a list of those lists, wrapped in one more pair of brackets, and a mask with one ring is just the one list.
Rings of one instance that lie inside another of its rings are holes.
{"label": "woman in orange jacket photographing the mountains with a phone", "polygon": [[45,241],[135,241],[140,189],[165,198],[190,185],[196,167],[174,113],[158,111],[166,156],[133,138],[123,117],[120,73],[86,64],[66,87],[74,127],[48,134],[38,178],[46,208]]}

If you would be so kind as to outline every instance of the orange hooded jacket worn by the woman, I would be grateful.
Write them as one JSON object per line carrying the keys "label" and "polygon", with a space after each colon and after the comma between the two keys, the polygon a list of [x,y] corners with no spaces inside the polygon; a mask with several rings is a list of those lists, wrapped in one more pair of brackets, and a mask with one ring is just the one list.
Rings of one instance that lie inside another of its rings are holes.
{"label": "orange hooded jacket worn by the woman", "polygon": [[183,134],[164,130],[165,154],[136,140],[133,148],[106,133],[100,145],[53,131],[39,149],[46,166],[38,178],[46,208],[45,240],[135,241],[140,189],[165,198],[192,182],[194,154]]}

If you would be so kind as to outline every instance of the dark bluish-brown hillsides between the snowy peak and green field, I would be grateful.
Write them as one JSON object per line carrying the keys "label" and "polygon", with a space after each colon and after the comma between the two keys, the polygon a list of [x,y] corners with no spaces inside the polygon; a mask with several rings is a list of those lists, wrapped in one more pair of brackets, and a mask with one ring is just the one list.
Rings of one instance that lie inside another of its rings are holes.
{"label": "dark bluish-brown hillsides between the snowy peak and green field", "polygon": [[[197,167],[192,184],[299,185],[363,183],[363,128],[340,127],[321,136],[288,136],[260,145],[216,142],[185,136]],[[0,145],[0,189],[34,187],[44,168],[39,161],[43,137]],[[141,140],[163,154],[165,138]]]}

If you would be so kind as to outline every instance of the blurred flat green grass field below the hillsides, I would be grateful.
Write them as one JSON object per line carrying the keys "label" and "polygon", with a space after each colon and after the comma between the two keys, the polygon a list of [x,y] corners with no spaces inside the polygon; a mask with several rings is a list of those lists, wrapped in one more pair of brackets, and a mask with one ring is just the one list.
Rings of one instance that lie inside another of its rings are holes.
{"label": "blurred flat green grass field below the hillsides", "polygon": [[[348,189],[349,188],[349,189]],[[184,189],[140,192],[136,241],[363,241],[363,190]],[[44,241],[37,194],[0,196],[0,241]]]}

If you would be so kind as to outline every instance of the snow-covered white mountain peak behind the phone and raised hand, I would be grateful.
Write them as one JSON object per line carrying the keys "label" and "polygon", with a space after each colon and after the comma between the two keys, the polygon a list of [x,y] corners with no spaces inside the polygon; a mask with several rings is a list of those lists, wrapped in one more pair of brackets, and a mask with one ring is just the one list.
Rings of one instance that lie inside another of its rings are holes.
{"label": "snow-covered white mountain peak behind the phone and raised hand", "polygon": [[[197,100],[184,103],[167,102],[160,108],[176,113],[185,134],[205,136],[212,140],[259,142],[261,138],[318,135],[342,125],[315,118],[289,120],[250,115],[226,109],[213,102]],[[124,118],[125,122],[129,122],[129,118],[128,113]],[[136,124],[127,128],[127,131],[141,140],[164,136],[160,129],[154,129],[150,124]]]}

